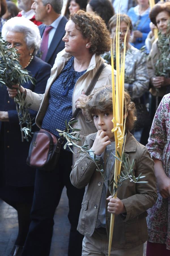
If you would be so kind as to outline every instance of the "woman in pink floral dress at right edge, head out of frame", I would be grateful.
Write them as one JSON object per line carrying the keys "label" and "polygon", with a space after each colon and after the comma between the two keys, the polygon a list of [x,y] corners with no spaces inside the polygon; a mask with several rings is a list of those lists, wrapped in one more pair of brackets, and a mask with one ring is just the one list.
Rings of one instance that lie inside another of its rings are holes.
{"label": "woman in pink floral dress at right edge, head out of frame", "polygon": [[170,94],[166,94],[150,130],[148,148],[154,162],[158,199],[148,210],[146,256],[170,255]]}

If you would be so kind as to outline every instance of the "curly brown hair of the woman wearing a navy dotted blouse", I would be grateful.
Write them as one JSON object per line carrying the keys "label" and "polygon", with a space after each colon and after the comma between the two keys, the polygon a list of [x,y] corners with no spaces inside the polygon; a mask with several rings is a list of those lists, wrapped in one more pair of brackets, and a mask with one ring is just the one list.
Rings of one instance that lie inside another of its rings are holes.
{"label": "curly brown hair of the woman wearing a navy dotted blouse", "polygon": [[104,20],[93,12],[79,10],[70,15],[84,38],[91,41],[90,52],[100,55],[110,50],[111,36]]}

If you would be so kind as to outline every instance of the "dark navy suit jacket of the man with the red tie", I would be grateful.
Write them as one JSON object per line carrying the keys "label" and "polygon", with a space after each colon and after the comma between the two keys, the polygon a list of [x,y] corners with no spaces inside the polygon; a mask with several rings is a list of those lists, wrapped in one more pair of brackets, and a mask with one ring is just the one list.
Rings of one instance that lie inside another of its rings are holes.
{"label": "dark navy suit jacket of the man with the red tie", "polygon": [[[56,29],[56,32],[54,34],[50,47],[48,48],[45,62],[49,63],[51,66],[54,65],[54,61],[56,59],[57,53],[59,53],[59,51],[62,51],[65,48],[65,43],[62,41],[62,38],[65,34],[65,24],[67,23],[67,21],[68,21],[67,18],[63,16],[63,18],[60,20],[58,24],[58,27]],[[41,24],[38,27],[40,30],[41,37],[44,33],[45,27],[46,26],[44,24]]]}

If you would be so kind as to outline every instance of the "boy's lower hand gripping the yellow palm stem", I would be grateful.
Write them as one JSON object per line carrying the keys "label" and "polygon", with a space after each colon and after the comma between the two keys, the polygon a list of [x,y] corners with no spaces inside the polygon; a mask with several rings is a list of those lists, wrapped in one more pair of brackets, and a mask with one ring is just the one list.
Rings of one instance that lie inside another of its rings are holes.
{"label": "boy's lower hand gripping the yellow palm stem", "polygon": [[124,204],[118,197],[112,198],[112,196],[109,196],[107,200],[109,201],[108,207],[107,207],[108,212],[117,214],[117,215],[123,212],[126,212],[126,208]]}

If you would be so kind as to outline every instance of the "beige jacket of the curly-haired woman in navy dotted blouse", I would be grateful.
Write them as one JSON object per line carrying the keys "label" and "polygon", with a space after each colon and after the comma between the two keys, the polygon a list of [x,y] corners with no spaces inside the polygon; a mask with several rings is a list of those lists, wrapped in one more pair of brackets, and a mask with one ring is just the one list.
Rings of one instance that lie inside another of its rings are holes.
{"label": "beige jacket of the curly-haired woman in navy dotted blouse", "polygon": [[[35,119],[36,124],[39,128],[41,128],[42,120],[44,118],[44,115],[46,113],[46,110],[48,108],[48,94],[50,87],[56,77],[61,73],[63,70],[65,64],[72,56],[69,53],[65,52],[65,49],[63,51],[60,51],[57,54],[55,63],[51,69],[51,75],[50,78],[47,81],[46,90],[44,94],[36,94],[32,92],[31,90],[26,89],[26,102],[27,104],[31,103],[30,108],[33,110],[38,111],[37,117]],[[92,59],[90,61],[89,67],[87,71],[77,80],[74,91],[73,91],[73,98],[72,98],[72,111],[74,113],[75,111],[75,102],[77,98],[81,95],[82,91],[86,92],[91,80],[93,79],[95,73],[97,72],[97,69],[100,67],[100,65],[105,62],[100,56],[94,54],[92,56]],[[103,85],[111,84],[111,66],[107,65],[103,71],[101,72],[101,75],[99,76],[96,84],[95,89],[98,87],[101,87]],[[80,142],[82,145],[84,144],[84,137],[90,133],[94,133],[96,131],[95,125],[93,121],[86,121],[82,113],[79,113],[78,117],[78,123],[74,125],[74,127],[81,129],[80,131],[80,138],[82,141]],[[75,155],[73,155],[73,165],[74,162],[78,159],[77,152],[78,148],[73,148]]]}

